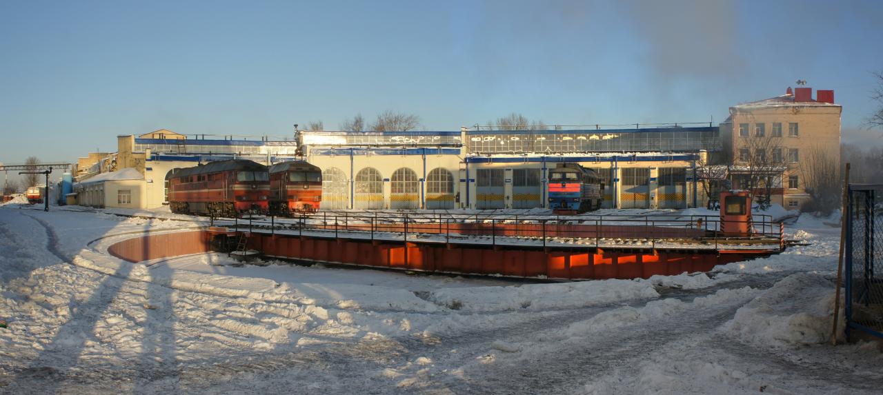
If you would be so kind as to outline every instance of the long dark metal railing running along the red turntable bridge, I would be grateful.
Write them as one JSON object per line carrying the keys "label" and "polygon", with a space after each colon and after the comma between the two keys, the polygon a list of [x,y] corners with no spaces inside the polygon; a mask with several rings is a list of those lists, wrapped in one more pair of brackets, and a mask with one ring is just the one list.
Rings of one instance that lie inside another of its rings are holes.
{"label": "long dark metal railing running along the red turntable bridge", "polygon": [[[232,222],[232,223],[230,223]],[[738,221],[736,221],[738,222]],[[721,245],[741,249],[784,248],[781,222],[768,215],[754,215],[749,234],[728,234],[721,231],[719,216],[706,215],[644,215],[644,216],[557,216],[511,215],[487,213],[409,213],[409,212],[313,212],[295,218],[260,217],[235,220],[213,220],[213,224],[232,225],[249,232],[280,232],[305,235],[322,232],[334,237],[394,239],[405,242],[455,242],[476,236],[492,245],[505,243],[536,244],[577,242],[587,247],[612,245],[657,248],[672,242],[683,245],[701,244],[718,249]],[[639,242],[622,242],[638,240]],[[593,243],[592,243],[593,240]],[[620,242],[616,242],[620,241]]]}

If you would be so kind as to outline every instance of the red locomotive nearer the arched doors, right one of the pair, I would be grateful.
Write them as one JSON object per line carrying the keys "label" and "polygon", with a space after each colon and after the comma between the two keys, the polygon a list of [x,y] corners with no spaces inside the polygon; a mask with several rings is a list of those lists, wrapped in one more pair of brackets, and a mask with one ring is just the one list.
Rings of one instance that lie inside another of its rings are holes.
{"label": "red locomotive nearer the arched doors, right one of the pair", "polygon": [[306,161],[277,163],[270,167],[270,212],[291,216],[315,212],[322,200],[322,170]]}

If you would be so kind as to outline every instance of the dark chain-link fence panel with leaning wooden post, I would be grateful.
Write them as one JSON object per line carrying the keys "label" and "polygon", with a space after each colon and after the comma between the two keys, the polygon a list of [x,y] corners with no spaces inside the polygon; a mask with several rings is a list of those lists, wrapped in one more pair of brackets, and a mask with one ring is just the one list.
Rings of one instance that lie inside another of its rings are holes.
{"label": "dark chain-link fence panel with leaning wooden post", "polygon": [[883,185],[849,185],[846,220],[846,334],[883,338]]}

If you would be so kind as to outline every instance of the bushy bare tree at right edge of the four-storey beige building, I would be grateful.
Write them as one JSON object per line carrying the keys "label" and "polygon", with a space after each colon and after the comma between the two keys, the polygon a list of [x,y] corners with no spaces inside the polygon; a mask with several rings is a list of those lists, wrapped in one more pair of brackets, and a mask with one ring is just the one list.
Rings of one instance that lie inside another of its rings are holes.
{"label": "bushy bare tree at right edge of the four-storey beige building", "polygon": [[840,207],[840,170],[826,148],[813,145],[800,161],[797,179],[811,197],[811,204],[802,208],[808,212],[827,215]]}

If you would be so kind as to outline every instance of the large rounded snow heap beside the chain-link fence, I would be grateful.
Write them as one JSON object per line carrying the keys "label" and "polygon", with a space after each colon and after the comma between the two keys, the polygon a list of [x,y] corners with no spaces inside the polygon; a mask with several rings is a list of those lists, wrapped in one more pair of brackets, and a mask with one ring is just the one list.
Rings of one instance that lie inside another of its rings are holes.
{"label": "large rounded snow heap beside the chain-link fence", "polygon": [[[797,273],[738,309],[725,331],[769,346],[819,344],[830,339],[833,316],[834,282],[817,273]],[[841,332],[843,319],[839,322]]]}

